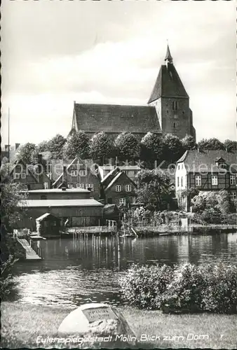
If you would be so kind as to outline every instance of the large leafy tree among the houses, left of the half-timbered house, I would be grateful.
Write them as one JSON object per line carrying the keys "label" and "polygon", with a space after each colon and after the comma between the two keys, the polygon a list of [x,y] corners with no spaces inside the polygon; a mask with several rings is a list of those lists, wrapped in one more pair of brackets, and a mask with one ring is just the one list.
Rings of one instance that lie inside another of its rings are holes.
{"label": "large leafy tree among the houses, left of the half-timbered house", "polygon": [[142,170],[137,174],[137,202],[153,210],[163,210],[172,202],[170,178],[157,170]]}

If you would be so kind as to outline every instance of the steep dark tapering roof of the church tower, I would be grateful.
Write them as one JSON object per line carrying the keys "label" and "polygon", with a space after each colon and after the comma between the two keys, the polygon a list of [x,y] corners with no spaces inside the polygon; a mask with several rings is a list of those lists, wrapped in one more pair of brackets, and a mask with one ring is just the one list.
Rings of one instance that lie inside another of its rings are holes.
{"label": "steep dark tapering roof of the church tower", "polygon": [[159,97],[189,98],[180,76],[172,63],[168,63],[167,66],[165,64],[161,66],[148,103],[150,104]]}

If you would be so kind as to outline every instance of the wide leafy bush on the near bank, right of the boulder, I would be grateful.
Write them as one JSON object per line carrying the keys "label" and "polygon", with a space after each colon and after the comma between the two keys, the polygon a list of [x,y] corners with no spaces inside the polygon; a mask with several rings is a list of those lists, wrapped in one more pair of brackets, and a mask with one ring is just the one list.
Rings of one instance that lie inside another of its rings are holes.
{"label": "wide leafy bush on the near bank, right of the boulder", "polygon": [[236,313],[236,265],[132,265],[120,284],[128,303],[141,309]]}

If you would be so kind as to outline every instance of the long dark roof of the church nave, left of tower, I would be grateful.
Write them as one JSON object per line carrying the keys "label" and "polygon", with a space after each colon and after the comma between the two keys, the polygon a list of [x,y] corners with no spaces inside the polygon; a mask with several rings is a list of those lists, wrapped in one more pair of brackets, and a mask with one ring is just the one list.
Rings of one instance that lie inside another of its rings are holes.
{"label": "long dark roof of the church nave, left of tower", "polygon": [[154,107],[74,104],[74,114],[78,130],[85,132],[161,132]]}

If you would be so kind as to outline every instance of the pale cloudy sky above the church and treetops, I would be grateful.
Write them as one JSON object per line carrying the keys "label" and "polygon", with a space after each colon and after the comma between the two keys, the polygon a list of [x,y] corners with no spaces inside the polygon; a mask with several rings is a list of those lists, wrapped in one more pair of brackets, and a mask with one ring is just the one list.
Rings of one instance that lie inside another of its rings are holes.
{"label": "pale cloudy sky above the church and treetops", "polygon": [[1,137],[35,144],[78,103],[147,104],[167,40],[197,140],[236,139],[235,1],[4,1]]}

